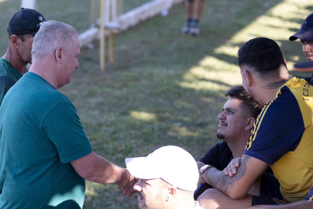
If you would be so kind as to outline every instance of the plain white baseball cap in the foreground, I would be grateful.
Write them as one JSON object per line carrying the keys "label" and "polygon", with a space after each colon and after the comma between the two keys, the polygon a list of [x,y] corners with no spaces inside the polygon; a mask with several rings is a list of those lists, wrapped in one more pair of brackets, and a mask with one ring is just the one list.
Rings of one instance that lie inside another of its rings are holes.
{"label": "plain white baseball cap in the foreground", "polygon": [[195,191],[199,178],[195,159],[177,146],[164,146],[146,157],[125,158],[129,172],[139,179],[161,178],[186,191]]}

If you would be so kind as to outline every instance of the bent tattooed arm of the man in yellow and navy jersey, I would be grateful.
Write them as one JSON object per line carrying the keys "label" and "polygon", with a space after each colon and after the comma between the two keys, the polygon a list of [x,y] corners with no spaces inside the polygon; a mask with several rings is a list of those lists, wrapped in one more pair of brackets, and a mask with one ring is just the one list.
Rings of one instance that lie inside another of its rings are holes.
{"label": "bent tattooed arm of the man in yellow and navy jersey", "polygon": [[237,173],[232,177],[225,175],[223,171],[209,168],[203,173],[203,179],[209,185],[223,191],[230,198],[239,199],[247,194],[267,166],[267,163],[244,154],[240,159]]}

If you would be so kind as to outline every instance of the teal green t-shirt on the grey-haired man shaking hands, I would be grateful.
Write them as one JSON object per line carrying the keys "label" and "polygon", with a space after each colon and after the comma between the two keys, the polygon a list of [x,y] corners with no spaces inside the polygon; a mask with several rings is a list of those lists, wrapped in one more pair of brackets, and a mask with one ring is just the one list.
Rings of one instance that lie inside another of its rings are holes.
{"label": "teal green t-shirt on the grey-haired man shaking hands", "polygon": [[82,208],[71,161],[92,152],[74,105],[27,72],[0,107],[0,208]]}

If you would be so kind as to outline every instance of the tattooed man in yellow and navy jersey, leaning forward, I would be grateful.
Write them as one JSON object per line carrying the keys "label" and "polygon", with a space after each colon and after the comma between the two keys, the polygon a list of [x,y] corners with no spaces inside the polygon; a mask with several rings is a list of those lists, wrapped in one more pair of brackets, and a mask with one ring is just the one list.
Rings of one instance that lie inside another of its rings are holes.
{"label": "tattooed man in yellow and navy jersey, leaning forward", "polygon": [[205,182],[227,196],[220,192],[215,200],[198,199],[200,206],[214,208],[244,197],[268,165],[280,182],[284,202],[302,201],[313,185],[313,87],[290,76],[272,39],[249,40],[237,60],[245,90],[264,108],[243,156],[224,172],[211,167],[202,173]]}

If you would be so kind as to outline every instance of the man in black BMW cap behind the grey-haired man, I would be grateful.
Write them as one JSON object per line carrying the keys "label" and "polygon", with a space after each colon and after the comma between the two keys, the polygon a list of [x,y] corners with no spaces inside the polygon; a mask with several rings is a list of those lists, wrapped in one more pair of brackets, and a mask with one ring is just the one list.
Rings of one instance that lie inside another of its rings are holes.
{"label": "man in black BMW cap behind the grey-haired man", "polygon": [[21,8],[10,18],[7,26],[9,45],[0,58],[0,105],[7,91],[27,72],[32,63],[32,44],[44,16],[34,9]]}

